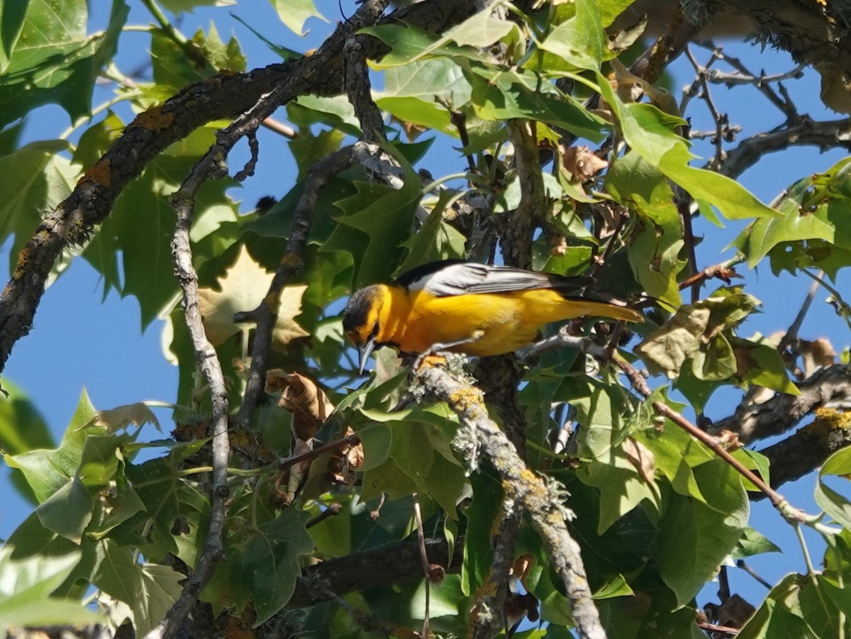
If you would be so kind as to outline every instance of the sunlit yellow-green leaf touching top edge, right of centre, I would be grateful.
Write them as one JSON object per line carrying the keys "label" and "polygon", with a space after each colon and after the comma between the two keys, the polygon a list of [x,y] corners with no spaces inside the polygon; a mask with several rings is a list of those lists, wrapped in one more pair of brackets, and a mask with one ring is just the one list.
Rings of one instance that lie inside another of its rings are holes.
{"label": "sunlit yellow-green leaf touching top edge, right of centre", "polygon": [[599,70],[606,37],[597,0],[576,0],[563,4],[562,8],[575,13],[550,31],[539,47],[579,69]]}

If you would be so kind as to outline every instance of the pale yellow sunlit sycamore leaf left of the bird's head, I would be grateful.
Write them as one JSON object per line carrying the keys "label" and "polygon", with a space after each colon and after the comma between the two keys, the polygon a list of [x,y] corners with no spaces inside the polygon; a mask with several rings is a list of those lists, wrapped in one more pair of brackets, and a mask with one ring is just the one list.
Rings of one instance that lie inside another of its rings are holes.
{"label": "pale yellow sunlit sycamore leaf left of the bird's head", "polygon": [[[243,246],[226,276],[219,278],[220,291],[198,289],[198,305],[211,344],[220,345],[231,335],[239,333],[240,326],[233,321],[233,316],[257,308],[269,291],[272,277],[273,274],[255,262]],[[283,289],[273,334],[277,346],[286,346],[293,339],[309,335],[294,319],[301,313],[301,297],[306,288],[288,286]]]}

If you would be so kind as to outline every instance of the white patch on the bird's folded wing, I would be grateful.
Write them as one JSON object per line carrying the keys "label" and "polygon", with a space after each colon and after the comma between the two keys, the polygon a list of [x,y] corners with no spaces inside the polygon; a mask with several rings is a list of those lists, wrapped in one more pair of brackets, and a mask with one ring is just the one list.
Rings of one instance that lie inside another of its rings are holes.
{"label": "white patch on the bird's folded wing", "polygon": [[451,264],[408,284],[408,290],[426,291],[437,297],[465,293],[502,293],[528,288],[553,288],[551,277],[506,266],[466,262]]}

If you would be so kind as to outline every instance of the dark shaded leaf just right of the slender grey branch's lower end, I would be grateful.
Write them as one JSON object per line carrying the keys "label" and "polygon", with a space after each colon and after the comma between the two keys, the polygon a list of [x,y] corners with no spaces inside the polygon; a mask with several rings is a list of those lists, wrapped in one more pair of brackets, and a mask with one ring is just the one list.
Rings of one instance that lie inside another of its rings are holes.
{"label": "dark shaded leaf just right of the slender grey branch's lower end", "polygon": [[271,522],[248,528],[228,540],[228,561],[214,579],[226,579],[237,609],[248,600],[254,602],[254,627],[271,618],[293,596],[301,574],[300,556],[313,551],[313,541],[305,529],[309,518],[309,512],[288,508]]}

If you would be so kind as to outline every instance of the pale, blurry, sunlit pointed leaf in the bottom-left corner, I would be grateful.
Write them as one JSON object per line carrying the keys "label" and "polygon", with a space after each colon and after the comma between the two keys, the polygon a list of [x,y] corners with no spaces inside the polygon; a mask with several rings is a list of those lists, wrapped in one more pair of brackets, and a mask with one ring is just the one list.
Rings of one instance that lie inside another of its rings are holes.
{"label": "pale, blurry, sunlit pointed leaf in the bottom-left corner", "polygon": [[77,566],[81,554],[11,558],[13,548],[0,548],[0,627],[94,624],[100,615],[78,601],[51,597]]}

